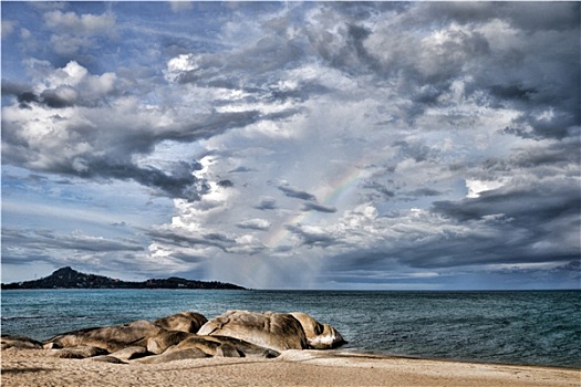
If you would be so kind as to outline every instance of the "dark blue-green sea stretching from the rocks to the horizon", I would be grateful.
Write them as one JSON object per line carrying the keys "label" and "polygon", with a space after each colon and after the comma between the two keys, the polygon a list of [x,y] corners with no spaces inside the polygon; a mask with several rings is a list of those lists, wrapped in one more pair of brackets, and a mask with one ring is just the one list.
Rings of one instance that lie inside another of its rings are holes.
{"label": "dark blue-green sea stretching from the rocks to the horizon", "polygon": [[2,334],[46,339],[82,327],[181,311],[305,312],[336,327],[343,351],[581,368],[581,291],[331,292],[3,291]]}

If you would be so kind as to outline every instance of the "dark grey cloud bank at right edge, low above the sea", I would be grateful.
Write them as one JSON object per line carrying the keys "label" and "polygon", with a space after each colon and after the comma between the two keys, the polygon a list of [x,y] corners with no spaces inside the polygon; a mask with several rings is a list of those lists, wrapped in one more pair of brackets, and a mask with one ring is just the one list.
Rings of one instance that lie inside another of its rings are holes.
{"label": "dark grey cloud bank at right edge, low above the sea", "polygon": [[[579,258],[581,202],[574,184],[495,190],[457,202],[437,201],[434,211],[458,224],[475,230],[486,227],[488,231],[446,234],[429,244],[416,245],[401,260],[421,268],[442,268]],[[469,252],[461,245],[469,247]]]}

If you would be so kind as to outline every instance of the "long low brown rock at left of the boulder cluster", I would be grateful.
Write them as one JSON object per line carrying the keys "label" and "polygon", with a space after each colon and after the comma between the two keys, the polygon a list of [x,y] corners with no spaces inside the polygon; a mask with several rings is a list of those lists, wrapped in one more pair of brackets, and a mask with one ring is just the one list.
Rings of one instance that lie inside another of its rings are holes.
{"label": "long low brown rock at left of the boulder cluster", "polygon": [[159,334],[162,331],[164,331],[162,327],[148,321],[139,320],[125,325],[64,333],[48,339],[45,344],[56,347],[90,345],[108,352],[116,352],[133,345],[146,347],[147,338]]}

